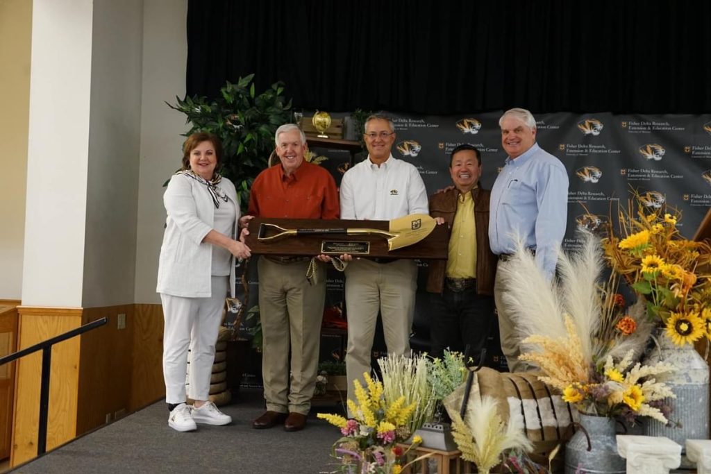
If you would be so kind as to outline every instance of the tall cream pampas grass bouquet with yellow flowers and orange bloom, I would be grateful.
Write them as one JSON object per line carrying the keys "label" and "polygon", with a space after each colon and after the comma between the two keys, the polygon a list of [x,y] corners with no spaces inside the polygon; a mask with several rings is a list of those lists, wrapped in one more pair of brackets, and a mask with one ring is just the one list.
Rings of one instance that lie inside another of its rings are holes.
{"label": "tall cream pampas grass bouquet with yellow flowers and orange bloom", "polygon": [[538,378],[580,413],[628,421],[650,416],[666,423],[664,399],[673,394],[656,376],[673,367],[634,363],[653,329],[645,306],[625,308],[614,292],[615,274],[601,284],[604,259],[597,237],[582,232],[579,241],[579,252],[560,252],[555,285],[523,246],[504,267],[510,311],[524,336],[519,358],[541,370]]}

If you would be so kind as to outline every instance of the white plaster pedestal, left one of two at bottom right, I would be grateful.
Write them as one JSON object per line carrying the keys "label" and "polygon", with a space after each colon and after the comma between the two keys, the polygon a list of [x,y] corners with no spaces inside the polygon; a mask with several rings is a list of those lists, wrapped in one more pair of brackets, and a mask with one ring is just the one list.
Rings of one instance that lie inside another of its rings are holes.
{"label": "white plaster pedestal, left one of two at bottom right", "polygon": [[627,474],[667,474],[681,463],[681,446],[665,436],[617,435],[617,452]]}

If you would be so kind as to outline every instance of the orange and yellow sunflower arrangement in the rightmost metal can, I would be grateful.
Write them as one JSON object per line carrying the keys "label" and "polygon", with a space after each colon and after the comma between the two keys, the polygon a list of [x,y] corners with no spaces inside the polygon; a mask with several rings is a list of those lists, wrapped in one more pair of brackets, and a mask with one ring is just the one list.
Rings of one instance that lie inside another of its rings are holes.
{"label": "orange and yellow sunflower arrangement in the rightmost metal can", "polygon": [[603,239],[613,271],[646,301],[650,321],[675,345],[711,339],[711,247],[678,230],[680,213],[646,208],[639,195],[619,210],[619,232]]}

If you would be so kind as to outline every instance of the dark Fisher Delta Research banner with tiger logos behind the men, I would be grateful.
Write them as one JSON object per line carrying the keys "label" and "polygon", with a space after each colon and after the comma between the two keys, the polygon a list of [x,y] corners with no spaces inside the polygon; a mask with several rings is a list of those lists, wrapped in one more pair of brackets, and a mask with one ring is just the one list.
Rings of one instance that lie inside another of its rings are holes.
{"label": "dark Fisher Delta Research banner with tiger logos behind the men", "polygon": [[[446,117],[391,114],[393,156],[419,169],[427,191],[451,184],[449,153],[468,143],[481,151],[481,185],[491,189],[504,166],[502,112]],[[631,191],[650,208],[680,210],[680,232],[693,234],[711,207],[711,114],[619,115],[560,112],[536,115],[538,144],[568,171],[565,249],[577,227],[595,228],[627,208]]]}

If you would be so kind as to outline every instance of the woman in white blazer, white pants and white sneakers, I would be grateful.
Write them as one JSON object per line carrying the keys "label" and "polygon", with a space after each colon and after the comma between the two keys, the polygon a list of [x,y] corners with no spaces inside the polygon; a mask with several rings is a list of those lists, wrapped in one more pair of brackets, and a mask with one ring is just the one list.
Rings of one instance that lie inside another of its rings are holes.
{"label": "woman in white blazer, white pants and white sneakers", "polygon": [[[235,257],[250,249],[238,239],[240,203],[235,185],[217,172],[222,146],[213,134],[196,133],[183,145],[183,166],[163,196],[168,217],[158,266],[163,304],[163,375],[168,424],[193,431],[196,422],[232,421],[208,401],[215,343],[228,291],[235,291]],[[191,350],[190,398],[186,404],[188,348]]]}

